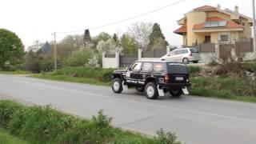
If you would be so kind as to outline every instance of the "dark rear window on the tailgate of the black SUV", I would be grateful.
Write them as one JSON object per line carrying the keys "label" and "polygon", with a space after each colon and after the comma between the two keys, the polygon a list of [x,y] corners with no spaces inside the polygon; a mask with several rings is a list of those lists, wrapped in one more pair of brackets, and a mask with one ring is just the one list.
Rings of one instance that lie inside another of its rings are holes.
{"label": "dark rear window on the tailgate of the black SUV", "polygon": [[186,65],[181,63],[167,63],[167,70],[170,74],[188,74]]}

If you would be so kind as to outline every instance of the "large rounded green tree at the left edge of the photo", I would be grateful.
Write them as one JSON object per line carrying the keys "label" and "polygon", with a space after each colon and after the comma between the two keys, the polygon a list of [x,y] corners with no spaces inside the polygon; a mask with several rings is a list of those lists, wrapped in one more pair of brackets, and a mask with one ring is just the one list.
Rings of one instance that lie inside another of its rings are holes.
{"label": "large rounded green tree at the left edge of the photo", "polygon": [[0,29],[0,69],[21,64],[24,54],[22,40],[10,30]]}

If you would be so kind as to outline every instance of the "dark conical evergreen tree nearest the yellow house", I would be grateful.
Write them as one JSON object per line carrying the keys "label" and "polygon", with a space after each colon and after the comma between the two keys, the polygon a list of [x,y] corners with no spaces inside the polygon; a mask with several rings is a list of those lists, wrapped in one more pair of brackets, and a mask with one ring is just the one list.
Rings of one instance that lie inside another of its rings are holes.
{"label": "dark conical evergreen tree nearest the yellow house", "polygon": [[166,38],[162,34],[162,30],[158,23],[154,23],[152,33],[150,34],[149,50],[163,49],[168,46]]}

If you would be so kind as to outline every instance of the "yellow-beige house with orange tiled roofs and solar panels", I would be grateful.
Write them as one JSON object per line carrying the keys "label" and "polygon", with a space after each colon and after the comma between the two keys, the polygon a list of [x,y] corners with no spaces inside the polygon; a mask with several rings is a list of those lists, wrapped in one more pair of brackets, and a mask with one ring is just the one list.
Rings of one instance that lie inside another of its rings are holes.
{"label": "yellow-beige house with orange tiled roofs and solar panels", "polygon": [[178,20],[181,27],[175,34],[183,36],[183,46],[202,43],[232,42],[251,38],[253,19],[234,10],[221,10],[220,6],[201,6]]}

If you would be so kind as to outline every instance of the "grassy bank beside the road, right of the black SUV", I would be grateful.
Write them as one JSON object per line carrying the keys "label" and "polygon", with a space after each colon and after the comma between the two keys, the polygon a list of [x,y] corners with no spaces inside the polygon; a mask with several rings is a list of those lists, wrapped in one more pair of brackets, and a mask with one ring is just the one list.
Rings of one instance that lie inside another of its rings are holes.
{"label": "grassy bank beside the road, right of the black SUV", "polygon": [[256,102],[256,82],[248,84],[250,80],[245,77],[230,78],[228,75],[219,78],[197,77],[191,78],[191,82],[192,86],[189,90],[193,95]]}

